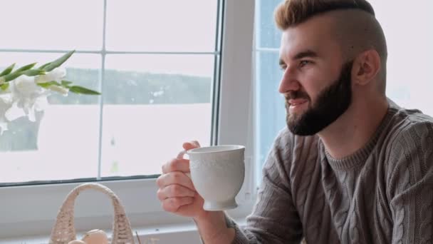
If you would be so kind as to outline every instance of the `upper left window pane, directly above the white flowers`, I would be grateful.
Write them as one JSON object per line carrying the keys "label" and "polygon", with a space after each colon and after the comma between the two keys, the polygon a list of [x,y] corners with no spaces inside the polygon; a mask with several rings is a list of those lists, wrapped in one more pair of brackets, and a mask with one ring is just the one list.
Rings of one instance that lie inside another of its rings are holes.
{"label": "upper left window pane, directly above the white flowers", "polygon": [[101,49],[102,0],[1,1],[0,9],[1,49]]}

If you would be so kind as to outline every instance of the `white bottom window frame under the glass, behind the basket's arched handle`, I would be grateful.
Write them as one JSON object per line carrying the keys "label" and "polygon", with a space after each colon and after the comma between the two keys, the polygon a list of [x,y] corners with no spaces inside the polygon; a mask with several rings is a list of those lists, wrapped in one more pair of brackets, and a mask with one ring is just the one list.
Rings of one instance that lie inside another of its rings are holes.
{"label": "white bottom window frame under the glass, behind the basket's arched handle", "polygon": [[[6,207],[1,211],[0,243],[6,243],[6,240],[9,240],[8,243],[35,243],[31,240],[38,240],[38,244],[45,240],[47,243],[47,236],[55,224],[65,193],[76,185],[78,183],[0,188],[0,195],[10,196],[2,199],[1,203]],[[146,230],[145,233],[157,233],[157,227],[160,231],[167,228],[167,231],[173,231],[170,226],[176,228],[194,224],[188,218],[162,210],[159,200],[155,197],[157,185],[154,179],[107,181],[103,185],[118,193],[122,205],[127,210],[133,232]],[[244,186],[249,188],[248,185]],[[44,195],[48,195],[49,198]],[[245,218],[253,208],[254,194],[250,195],[248,191],[241,189],[237,198],[239,207],[229,210],[228,213],[235,219]],[[29,210],[28,199],[32,200],[32,208],[38,209],[37,211]],[[112,228],[113,206],[104,194],[81,193],[75,205],[74,222],[78,233],[95,228],[108,230]]]}

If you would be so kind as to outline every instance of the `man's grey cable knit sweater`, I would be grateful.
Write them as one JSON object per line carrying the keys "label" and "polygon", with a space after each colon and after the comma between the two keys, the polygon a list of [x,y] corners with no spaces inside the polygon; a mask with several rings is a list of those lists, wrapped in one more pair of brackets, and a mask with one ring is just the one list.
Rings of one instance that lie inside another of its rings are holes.
{"label": "man's grey cable knit sweater", "polygon": [[332,158],[318,136],[276,138],[234,243],[433,243],[433,118],[395,104],[363,148]]}

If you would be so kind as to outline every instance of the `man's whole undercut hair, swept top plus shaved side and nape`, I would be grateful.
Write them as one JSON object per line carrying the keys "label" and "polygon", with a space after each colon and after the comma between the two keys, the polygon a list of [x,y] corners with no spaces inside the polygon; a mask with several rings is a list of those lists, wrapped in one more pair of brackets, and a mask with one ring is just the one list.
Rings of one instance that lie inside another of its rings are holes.
{"label": "man's whole undercut hair, swept top plus shaved side and nape", "polygon": [[380,56],[380,82],[377,88],[385,94],[387,44],[375,11],[366,0],[286,0],[275,10],[278,29],[285,31],[308,21],[313,16],[333,12],[333,36],[346,59],[362,51],[375,49]]}

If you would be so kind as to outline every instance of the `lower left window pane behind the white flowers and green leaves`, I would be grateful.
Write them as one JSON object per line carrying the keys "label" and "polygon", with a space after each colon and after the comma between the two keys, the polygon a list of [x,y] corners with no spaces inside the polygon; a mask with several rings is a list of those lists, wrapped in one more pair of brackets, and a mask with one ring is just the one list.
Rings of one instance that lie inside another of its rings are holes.
{"label": "lower left window pane behind the white flowers and green leaves", "polygon": [[[1,53],[0,66],[41,63],[59,54]],[[66,79],[96,90],[100,55],[74,54],[65,63]],[[98,173],[98,97],[49,96],[36,121],[21,117],[9,122],[0,136],[0,182],[52,181],[96,177]]]}

